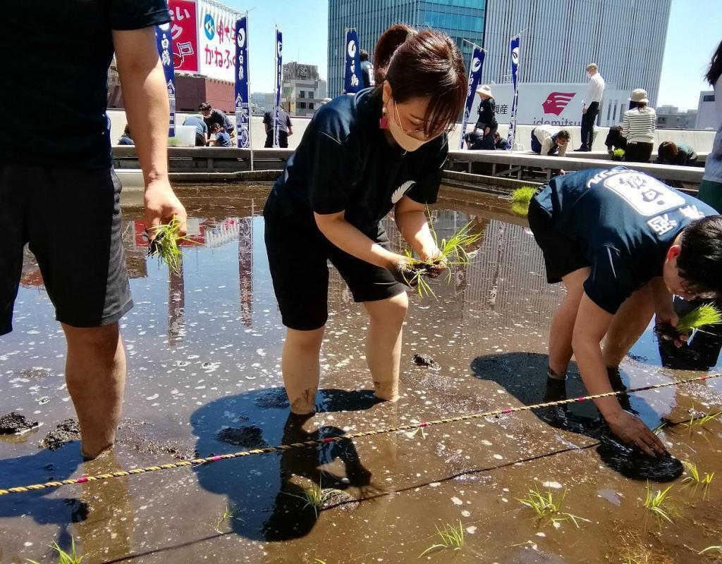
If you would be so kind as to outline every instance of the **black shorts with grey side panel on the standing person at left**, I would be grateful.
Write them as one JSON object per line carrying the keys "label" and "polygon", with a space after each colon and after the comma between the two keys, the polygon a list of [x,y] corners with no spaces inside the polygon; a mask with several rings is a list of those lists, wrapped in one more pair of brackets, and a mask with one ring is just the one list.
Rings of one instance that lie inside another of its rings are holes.
{"label": "black shorts with grey side panel on the standing person at left", "polygon": [[12,330],[26,243],[56,320],[99,327],[133,307],[120,196],[113,169],[0,165],[0,335]]}

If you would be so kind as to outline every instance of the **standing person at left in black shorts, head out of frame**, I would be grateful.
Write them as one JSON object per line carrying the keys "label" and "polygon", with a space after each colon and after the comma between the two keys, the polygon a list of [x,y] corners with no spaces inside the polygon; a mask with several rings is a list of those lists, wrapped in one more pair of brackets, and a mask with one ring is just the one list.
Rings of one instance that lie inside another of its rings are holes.
{"label": "standing person at left in black shorts, head out of frame", "polygon": [[[22,113],[9,113],[0,133],[0,335],[12,330],[27,243],[66,335],[66,382],[87,458],[115,439],[126,377],[118,320],[133,305],[106,115],[113,52],[147,223],[186,221],[168,182],[168,92],[155,42],[155,25],[169,21],[165,0],[39,0],[6,14],[0,101],[40,114],[32,143],[15,133]],[[33,68],[43,69],[41,81]]]}

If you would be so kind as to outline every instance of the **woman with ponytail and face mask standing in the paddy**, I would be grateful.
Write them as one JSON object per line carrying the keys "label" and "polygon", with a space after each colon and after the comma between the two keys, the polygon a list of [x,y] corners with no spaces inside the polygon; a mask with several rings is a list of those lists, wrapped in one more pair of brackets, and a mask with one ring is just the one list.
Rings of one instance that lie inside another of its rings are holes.
{"label": "woman with ponytail and face mask standing in the paddy", "polygon": [[411,267],[389,250],[379,221],[393,208],[417,255],[440,257],[425,206],[436,201],[446,133],[464,107],[464,61],[443,33],[406,25],[389,27],[374,53],[376,86],[316,111],[264,207],[271,278],[287,327],[282,371],[298,414],[313,412],[318,388],[326,261],[370,316],[366,358],[375,394],[396,401]]}

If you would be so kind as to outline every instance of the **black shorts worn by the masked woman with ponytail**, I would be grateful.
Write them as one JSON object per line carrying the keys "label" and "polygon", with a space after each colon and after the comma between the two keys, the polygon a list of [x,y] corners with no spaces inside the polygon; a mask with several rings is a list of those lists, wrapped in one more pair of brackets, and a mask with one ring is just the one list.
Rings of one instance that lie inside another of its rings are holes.
{"label": "black shorts worn by the masked woman with ponytail", "polygon": [[[354,301],[377,301],[397,296],[406,286],[386,268],[349,255],[329,242],[315,224],[290,221],[266,205],[266,252],[283,325],[310,331],[329,318],[329,265],[331,261],[349,286]],[[388,249],[382,226],[371,239]]]}

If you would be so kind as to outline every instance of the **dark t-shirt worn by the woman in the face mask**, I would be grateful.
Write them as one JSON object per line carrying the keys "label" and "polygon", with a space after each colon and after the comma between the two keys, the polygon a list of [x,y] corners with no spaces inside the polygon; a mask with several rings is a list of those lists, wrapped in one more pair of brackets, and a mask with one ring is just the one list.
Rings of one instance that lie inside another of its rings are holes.
{"label": "dark t-shirt worn by the woman in the face mask", "polygon": [[381,98],[371,89],[321,106],[276,181],[269,209],[304,224],[313,222],[313,212],[345,211],[349,223],[375,234],[404,194],[435,203],[446,136],[406,152],[388,144],[378,127],[380,116]]}

